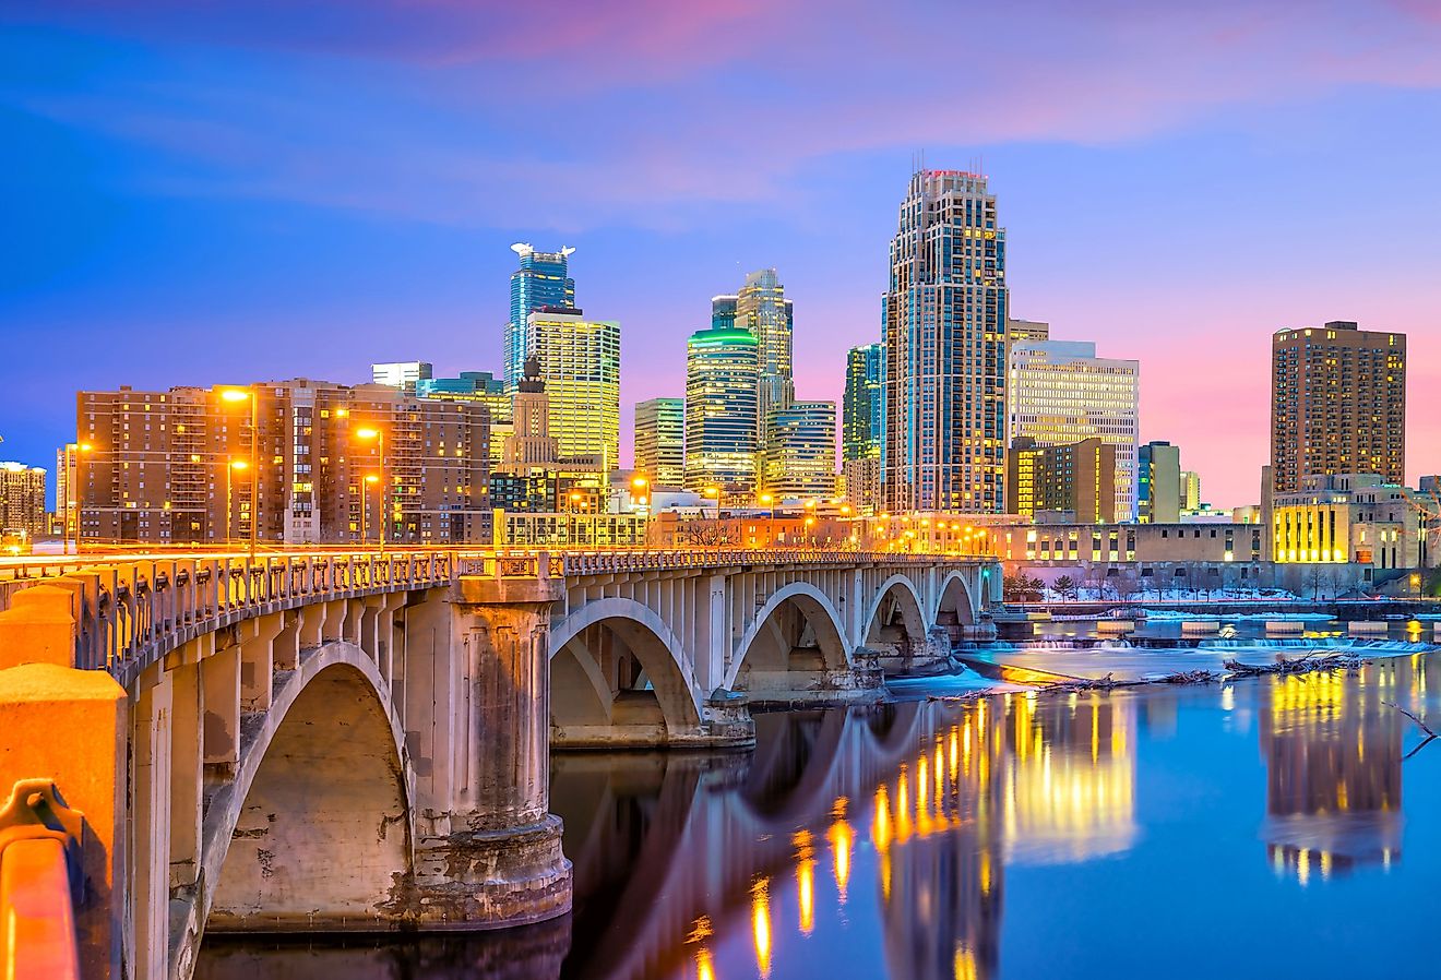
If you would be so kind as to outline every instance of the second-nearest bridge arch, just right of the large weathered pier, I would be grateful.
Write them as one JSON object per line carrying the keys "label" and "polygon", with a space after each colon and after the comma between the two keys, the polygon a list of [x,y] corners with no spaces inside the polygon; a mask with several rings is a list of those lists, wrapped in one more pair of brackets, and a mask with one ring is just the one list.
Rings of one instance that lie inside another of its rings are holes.
{"label": "second-nearest bridge arch, just right of the large weathered pier", "polygon": [[650,607],[623,597],[585,602],[550,628],[550,728],[558,744],[608,741],[625,725],[670,741],[700,728],[702,693],[684,647]]}

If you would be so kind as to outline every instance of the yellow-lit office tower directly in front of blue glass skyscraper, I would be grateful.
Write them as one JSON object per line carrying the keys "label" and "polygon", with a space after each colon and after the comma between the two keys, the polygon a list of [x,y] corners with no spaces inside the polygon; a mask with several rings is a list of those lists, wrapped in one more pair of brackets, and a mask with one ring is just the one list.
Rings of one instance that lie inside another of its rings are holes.
{"label": "yellow-lit office tower directly in front of blue glass skyscraper", "polygon": [[598,457],[599,471],[610,473],[621,451],[621,324],[543,310],[526,317],[526,334],[561,455]]}

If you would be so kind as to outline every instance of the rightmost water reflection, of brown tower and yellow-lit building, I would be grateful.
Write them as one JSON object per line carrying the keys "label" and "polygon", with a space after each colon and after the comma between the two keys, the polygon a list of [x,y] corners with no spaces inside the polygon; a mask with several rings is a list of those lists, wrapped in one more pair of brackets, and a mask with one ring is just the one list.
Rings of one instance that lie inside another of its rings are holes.
{"label": "rightmost water reflection, of brown tower and yellow-lit building", "polygon": [[1425,699],[1425,660],[1380,660],[1359,676],[1267,679],[1261,751],[1267,758],[1267,855],[1301,883],[1401,858],[1402,735],[1385,702]]}

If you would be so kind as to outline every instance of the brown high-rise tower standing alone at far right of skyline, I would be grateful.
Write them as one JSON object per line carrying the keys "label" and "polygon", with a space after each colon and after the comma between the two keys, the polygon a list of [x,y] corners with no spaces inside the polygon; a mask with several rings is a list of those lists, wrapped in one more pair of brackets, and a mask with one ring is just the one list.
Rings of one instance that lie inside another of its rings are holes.
{"label": "brown high-rise tower standing alone at far right of skyline", "polygon": [[1405,483],[1406,336],[1349,320],[1271,337],[1275,493],[1308,476],[1376,473]]}

